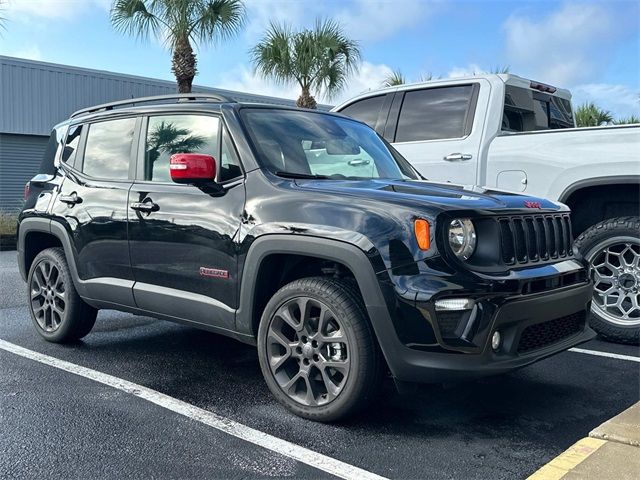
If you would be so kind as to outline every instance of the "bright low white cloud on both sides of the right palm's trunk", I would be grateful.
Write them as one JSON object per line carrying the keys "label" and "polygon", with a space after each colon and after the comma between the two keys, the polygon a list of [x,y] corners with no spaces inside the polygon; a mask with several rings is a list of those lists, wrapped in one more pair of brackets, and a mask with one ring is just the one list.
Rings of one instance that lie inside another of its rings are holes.
{"label": "bright low white cloud on both sides of the right palm's trunk", "polygon": [[[369,62],[362,62],[360,70],[350,77],[347,88],[344,91],[332,99],[316,97],[316,100],[319,103],[337,105],[360,93],[380,88],[382,82],[390,73],[391,68],[387,65],[374,65]],[[270,95],[292,100],[297,99],[300,95],[300,88],[297,84],[276,85],[255,74],[246,65],[239,65],[235,69],[230,70],[215,86],[227,90]]]}

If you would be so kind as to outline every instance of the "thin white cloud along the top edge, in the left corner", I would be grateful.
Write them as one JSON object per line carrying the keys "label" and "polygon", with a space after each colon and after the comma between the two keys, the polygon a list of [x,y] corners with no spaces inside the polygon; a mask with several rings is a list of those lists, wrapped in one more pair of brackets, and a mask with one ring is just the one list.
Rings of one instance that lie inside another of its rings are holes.
{"label": "thin white cloud along the top edge, in the left corner", "polygon": [[[7,17],[28,19],[44,17],[65,19],[76,17],[92,7],[108,12],[112,0],[9,0]],[[15,15],[12,15],[15,14]]]}

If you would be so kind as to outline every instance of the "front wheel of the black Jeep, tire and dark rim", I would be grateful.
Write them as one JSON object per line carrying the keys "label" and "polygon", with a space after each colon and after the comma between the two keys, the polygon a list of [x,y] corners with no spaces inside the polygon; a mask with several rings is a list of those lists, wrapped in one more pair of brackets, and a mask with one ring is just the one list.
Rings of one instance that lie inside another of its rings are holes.
{"label": "front wheel of the black Jeep, tire and dark rim", "polygon": [[258,353],[278,401],[320,422],[362,408],[382,377],[364,304],[344,280],[303,278],[278,290],[260,320]]}

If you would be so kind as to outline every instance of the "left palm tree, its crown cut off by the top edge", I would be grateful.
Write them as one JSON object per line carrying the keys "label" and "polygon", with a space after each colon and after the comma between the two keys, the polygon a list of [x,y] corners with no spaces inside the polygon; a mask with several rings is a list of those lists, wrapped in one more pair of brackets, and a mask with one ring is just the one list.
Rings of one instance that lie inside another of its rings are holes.
{"label": "left palm tree, its crown cut off by the top edge", "polygon": [[162,38],[170,47],[178,92],[191,92],[197,60],[191,43],[225,40],[244,25],[241,0],[115,0],[111,23],[120,32]]}

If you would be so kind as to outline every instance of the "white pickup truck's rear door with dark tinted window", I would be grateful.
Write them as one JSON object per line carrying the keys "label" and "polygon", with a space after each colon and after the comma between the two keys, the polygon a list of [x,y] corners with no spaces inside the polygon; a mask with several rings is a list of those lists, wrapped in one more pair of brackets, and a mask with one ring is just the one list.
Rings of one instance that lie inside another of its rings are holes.
{"label": "white pickup truck's rear door with dark tinted window", "polygon": [[481,90],[488,95],[480,81],[396,93],[384,136],[429,180],[476,183],[483,122],[476,105]]}

